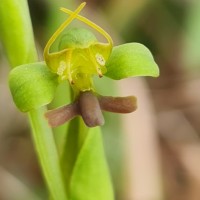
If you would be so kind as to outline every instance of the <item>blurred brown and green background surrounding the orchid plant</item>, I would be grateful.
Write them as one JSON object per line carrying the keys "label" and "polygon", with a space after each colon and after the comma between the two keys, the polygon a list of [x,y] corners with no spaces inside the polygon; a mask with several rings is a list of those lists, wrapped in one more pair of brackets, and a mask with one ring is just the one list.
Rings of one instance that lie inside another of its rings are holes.
{"label": "blurred brown and green background surrounding the orchid plant", "polygon": [[[66,17],[59,7],[78,3],[29,0],[40,55]],[[199,200],[200,1],[88,0],[83,15],[105,28],[115,44],[146,45],[160,67],[159,78],[99,89],[138,97],[138,110],[121,117],[120,133],[114,115],[104,127],[116,200]],[[26,115],[9,93],[8,71],[0,46],[0,200],[47,199]]]}

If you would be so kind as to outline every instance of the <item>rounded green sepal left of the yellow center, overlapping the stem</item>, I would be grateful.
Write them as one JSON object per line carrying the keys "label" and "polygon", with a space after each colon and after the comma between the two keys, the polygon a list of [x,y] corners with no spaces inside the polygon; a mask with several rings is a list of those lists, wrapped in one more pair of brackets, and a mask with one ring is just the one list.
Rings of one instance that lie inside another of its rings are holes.
{"label": "rounded green sepal left of the yellow center, overlapping the stem", "polygon": [[57,85],[57,75],[44,62],[18,66],[9,75],[13,100],[22,112],[50,103]]}

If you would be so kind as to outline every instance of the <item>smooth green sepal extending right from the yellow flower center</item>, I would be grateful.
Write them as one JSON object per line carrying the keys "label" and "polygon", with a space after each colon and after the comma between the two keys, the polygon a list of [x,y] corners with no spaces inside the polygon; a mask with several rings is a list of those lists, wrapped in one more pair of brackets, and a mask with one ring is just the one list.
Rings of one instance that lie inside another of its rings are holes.
{"label": "smooth green sepal extending right from the yellow flower center", "polygon": [[105,76],[119,80],[132,76],[159,76],[151,52],[142,44],[127,43],[113,48]]}

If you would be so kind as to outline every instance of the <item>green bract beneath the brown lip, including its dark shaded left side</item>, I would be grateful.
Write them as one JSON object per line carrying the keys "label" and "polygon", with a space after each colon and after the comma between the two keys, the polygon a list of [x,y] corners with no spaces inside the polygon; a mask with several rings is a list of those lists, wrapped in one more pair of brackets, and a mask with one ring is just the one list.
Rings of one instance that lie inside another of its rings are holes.
{"label": "green bract beneath the brown lip, including its dark shaded left side", "polygon": [[81,117],[70,121],[61,166],[70,200],[113,200],[113,189],[99,127]]}

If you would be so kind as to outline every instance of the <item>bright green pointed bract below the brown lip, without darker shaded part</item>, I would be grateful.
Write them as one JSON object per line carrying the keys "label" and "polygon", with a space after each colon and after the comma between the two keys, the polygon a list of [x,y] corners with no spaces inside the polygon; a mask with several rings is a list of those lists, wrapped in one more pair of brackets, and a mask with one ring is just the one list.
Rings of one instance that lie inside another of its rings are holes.
{"label": "bright green pointed bract below the brown lip, without darker shaded part", "polygon": [[89,129],[74,165],[70,182],[70,200],[74,199],[114,199],[99,127]]}

